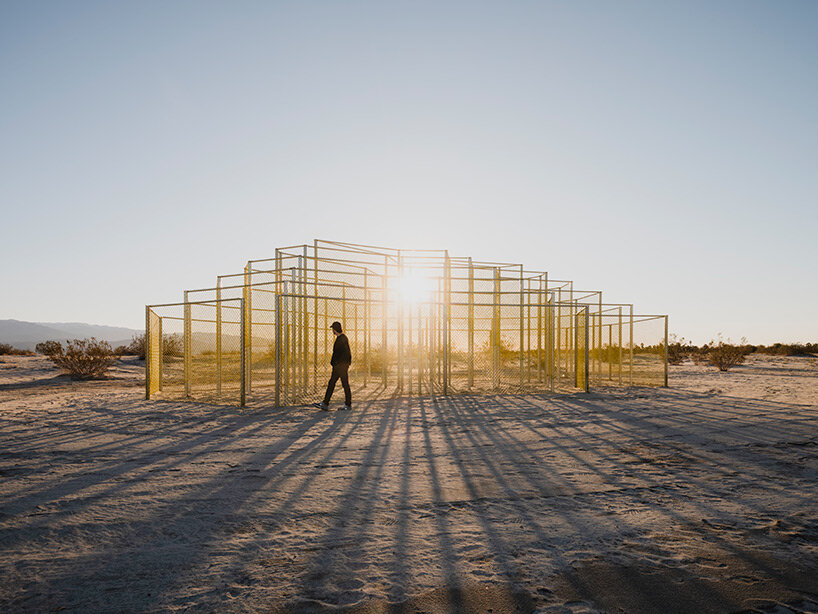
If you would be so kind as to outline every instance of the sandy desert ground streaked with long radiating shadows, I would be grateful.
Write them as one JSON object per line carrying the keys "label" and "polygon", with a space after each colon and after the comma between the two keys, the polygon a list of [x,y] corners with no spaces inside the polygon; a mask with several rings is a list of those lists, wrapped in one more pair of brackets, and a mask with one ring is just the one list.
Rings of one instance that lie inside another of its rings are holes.
{"label": "sandy desert ground streaked with long radiating shadows", "polygon": [[816,358],[351,413],[5,361],[2,612],[818,612]]}

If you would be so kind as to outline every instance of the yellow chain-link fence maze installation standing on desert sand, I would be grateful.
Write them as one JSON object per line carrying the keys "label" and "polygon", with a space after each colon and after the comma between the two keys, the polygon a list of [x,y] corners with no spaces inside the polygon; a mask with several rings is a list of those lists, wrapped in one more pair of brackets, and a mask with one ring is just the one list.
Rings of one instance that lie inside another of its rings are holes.
{"label": "yellow chain-link fence maze installation standing on desert sand", "polygon": [[339,321],[357,399],[667,385],[667,316],[521,264],[333,241],[279,248],[148,305],[146,395],[301,405]]}

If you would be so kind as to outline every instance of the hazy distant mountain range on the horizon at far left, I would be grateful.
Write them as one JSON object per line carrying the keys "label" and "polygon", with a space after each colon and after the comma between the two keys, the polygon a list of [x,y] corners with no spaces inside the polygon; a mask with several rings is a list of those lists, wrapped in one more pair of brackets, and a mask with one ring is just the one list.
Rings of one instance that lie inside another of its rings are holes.
{"label": "hazy distant mountain range on the horizon at far left", "polygon": [[33,350],[41,341],[67,341],[96,337],[113,347],[127,345],[142,330],[123,326],[101,326],[82,322],[22,322],[0,320],[0,343],[9,343],[21,350]]}

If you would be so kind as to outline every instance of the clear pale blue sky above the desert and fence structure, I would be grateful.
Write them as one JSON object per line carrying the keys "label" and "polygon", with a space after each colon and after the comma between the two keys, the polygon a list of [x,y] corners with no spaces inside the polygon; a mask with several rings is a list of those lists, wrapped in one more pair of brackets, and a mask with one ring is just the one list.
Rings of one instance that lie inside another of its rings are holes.
{"label": "clear pale blue sky above the desert and fence structure", "polygon": [[0,2],[0,319],[313,238],[818,341],[818,2]]}

